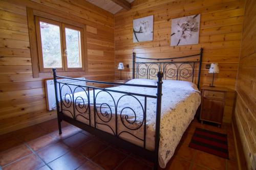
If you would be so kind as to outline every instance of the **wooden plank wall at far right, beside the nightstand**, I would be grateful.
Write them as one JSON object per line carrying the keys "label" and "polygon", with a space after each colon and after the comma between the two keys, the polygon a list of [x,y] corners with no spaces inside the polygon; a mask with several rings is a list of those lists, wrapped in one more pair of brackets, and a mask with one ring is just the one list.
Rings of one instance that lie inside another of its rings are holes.
{"label": "wooden plank wall at far right, beside the nightstand", "polygon": [[250,168],[256,154],[256,3],[247,0],[241,43],[241,55],[236,90],[238,92],[234,113],[243,151]]}

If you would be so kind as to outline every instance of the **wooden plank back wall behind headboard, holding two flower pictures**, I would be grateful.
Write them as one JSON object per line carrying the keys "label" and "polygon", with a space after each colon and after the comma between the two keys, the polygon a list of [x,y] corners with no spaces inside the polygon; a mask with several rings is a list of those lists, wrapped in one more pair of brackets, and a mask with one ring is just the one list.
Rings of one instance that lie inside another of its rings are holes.
{"label": "wooden plank back wall behind headboard, holding two flower pictures", "polygon": [[[151,58],[179,57],[198,54],[204,48],[201,84],[209,85],[212,74],[206,64],[218,62],[220,73],[216,86],[234,89],[236,85],[241,36],[244,19],[244,0],[215,1],[153,1],[138,0],[132,9],[115,14],[115,76],[119,78],[117,64],[123,62],[130,68],[122,71],[122,78],[132,78],[132,53]],[[170,46],[171,19],[201,14],[199,44]],[[133,43],[133,19],[154,15],[154,39]],[[230,123],[234,93],[228,93],[224,122]]]}

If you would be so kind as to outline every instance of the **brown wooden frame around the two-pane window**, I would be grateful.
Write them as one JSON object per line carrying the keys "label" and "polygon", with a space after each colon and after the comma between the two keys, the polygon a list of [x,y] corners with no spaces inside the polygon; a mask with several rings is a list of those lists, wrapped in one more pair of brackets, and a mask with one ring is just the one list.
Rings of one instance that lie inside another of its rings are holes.
{"label": "brown wooden frame around the two-pane window", "polygon": [[[48,68],[46,70],[42,70],[39,68],[39,53],[41,53],[38,49],[38,38],[36,32],[36,17],[41,17],[44,19],[49,19],[51,21],[63,23],[66,26],[74,26],[74,28],[80,29],[80,38],[81,38],[81,60],[82,60],[82,68],[57,68],[57,71],[60,72],[62,76],[70,76],[70,75],[81,75],[86,74],[88,71],[88,54],[87,54],[87,25],[84,22],[80,22],[79,18],[66,18],[58,15],[49,14],[46,12],[38,11],[33,8],[27,7],[27,17],[28,17],[28,32],[29,32],[29,41],[30,41],[30,54],[32,61],[32,77],[33,78],[52,78],[51,72],[52,69]],[[61,38],[63,38],[61,36]],[[61,41],[62,42],[62,41]],[[40,41],[41,43],[41,41]],[[62,47],[62,45],[61,45]],[[63,55],[63,50],[61,51]],[[62,60],[63,62],[64,60]],[[40,61],[42,63],[42,61]],[[64,65],[63,65],[64,66]]]}

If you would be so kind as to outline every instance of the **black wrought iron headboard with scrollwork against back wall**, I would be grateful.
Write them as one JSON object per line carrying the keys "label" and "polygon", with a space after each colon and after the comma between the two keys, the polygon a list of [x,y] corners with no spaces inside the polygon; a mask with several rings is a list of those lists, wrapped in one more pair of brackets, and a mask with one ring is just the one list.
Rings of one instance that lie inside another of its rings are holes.
{"label": "black wrought iron headboard with scrollwork against back wall", "polygon": [[[189,58],[197,57],[195,60],[189,60]],[[157,72],[162,71],[164,73],[163,79],[172,80],[190,80],[194,82],[195,78],[195,67],[198,65],[198,77],[197,77],[197,87],[200,85],[200,75],[202,66],[203,48],[200,49],[199,54],[173,57],[173,58],[144,58],[136,57],[133,53],[133,79],[145,78],[154,79],[157,78]],[[187,59],[186,59],[187,58]],[[136,59],[143,60],[153,60],[147,61],[136,61]],[[185,59],[185,61],[175,61],[179,59]],[[154,61],[157,60],[157,61]],[[163,61],[165,60],[165,61]]]}

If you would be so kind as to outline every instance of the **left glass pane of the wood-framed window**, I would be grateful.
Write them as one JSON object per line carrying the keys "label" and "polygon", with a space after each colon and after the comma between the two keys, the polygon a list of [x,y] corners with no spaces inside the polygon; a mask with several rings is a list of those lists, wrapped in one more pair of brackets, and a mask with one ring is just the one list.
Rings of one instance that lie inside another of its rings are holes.
{"label": "left glass pane of the wood-framed window", "polygon": [[44,67],[62,67],[59,26],[40,21],[40,32]]}

